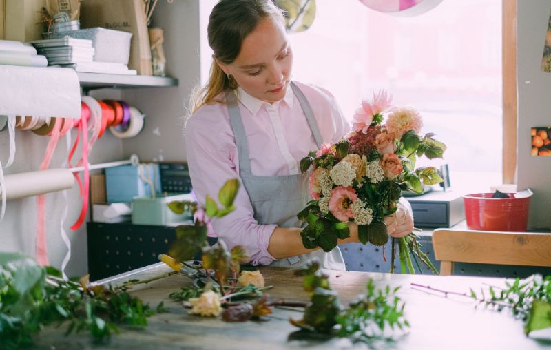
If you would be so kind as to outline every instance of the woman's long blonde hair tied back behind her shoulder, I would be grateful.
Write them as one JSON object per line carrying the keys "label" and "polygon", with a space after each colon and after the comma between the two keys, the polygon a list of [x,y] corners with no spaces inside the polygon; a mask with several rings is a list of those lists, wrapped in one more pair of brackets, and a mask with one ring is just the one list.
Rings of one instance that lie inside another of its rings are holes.
{"label": "woman's long blonde hair tied back behind her shoulder", "polygon": [[218,95],[238,87],[235,79],[227,76],[216,61],[224,64],[235,61],[245,37],[266,17],[284,23],[282,10],[272,0],[220,0],[214,6],[207,27],[209,46],[214,51],[209,81],[191,93],[191,114],[202,105],[225,103]]}

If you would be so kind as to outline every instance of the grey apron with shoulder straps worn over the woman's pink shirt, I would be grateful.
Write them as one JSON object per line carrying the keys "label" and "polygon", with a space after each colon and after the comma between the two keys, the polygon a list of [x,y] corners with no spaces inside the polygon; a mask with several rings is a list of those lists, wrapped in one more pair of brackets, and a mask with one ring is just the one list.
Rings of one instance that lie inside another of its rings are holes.
{"label": "grey apron with shoulder straps worn over the woman's pink shirt", "polygon": [[[300,91],[295,83],[291,82],[291,88],[302,107],[310,130],[315,138],[318,148],[322,145],[322,137],[313,116],[312,108],[306,100],[306,96]],[[233,136],[236,138],[236,145],[239,156],[239,176],[243,186],[249,194],[253,206],[253,216],[260,225],[276,224],[279,227],[304,227],[306,223],[298,220],[297,214],[306,207],[311,200],[308,181],[309,174],[295,174],[287,176],[254,176],[251,174],[251,163],[249,160],[249,147],[245,128],[241,118],[236,96],[233,92],[227,92],[226,101],[228,105],[229,120],[233,129]],[[307,135],[304,135],[305,137]],[[329,253],[321,249],[311,253],[291,258],[275,260],[270,266],[278,267],[300,267],[306,265],[308,260],[313,258],[320,261],[323,269],[344,270],[344,260],[338,247]]]}

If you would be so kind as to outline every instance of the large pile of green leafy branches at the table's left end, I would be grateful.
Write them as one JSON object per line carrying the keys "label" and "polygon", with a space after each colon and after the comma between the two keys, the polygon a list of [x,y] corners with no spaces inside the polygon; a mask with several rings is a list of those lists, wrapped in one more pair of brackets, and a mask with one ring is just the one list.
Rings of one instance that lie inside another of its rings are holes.
{"label": "large pile of green leafy branches at the table's left end", "polygon": [[53,267],[0,253],[0,349],[28,347],[43,327],[65,322],[65,334],[87,330],[99,342],[118,333],[118,325],[144,327],[153,313],[124,288],[63,280]]}

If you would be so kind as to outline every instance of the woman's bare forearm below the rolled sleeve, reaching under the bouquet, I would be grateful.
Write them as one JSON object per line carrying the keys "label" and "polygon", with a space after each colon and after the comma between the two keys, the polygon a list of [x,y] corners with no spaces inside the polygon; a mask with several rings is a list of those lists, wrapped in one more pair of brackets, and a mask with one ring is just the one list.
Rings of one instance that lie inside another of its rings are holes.
{"label": "woman's bare forearm below the rolled sleeve, reaching under the bouquet", "polygon": [[[268,243],[269,254],[276,259],[282,259],[320,249],[319,247],[314,249],[304,248],[304,245],[302,245],[302,237],[300,237],[300,231],[302,231],[302,229],[275,227]],[[357,239],[357,225],[355,223],[349,223],[349,231],[350,237],[344,240],[338,240],[338,244],[342,245],[344,243],[359,242]]]}

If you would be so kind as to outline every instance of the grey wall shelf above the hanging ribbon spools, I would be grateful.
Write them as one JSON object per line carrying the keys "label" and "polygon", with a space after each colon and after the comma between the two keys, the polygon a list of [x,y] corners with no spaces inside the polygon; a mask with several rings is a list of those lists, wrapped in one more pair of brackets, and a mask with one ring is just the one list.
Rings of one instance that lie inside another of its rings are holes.
{"label": "grey wall shelf above the hanging ribbon spools", "polygon": [[76,72],[85,90],[102,88],[167,88],[177,86],[178,79],[167,76],[124,75]]}

